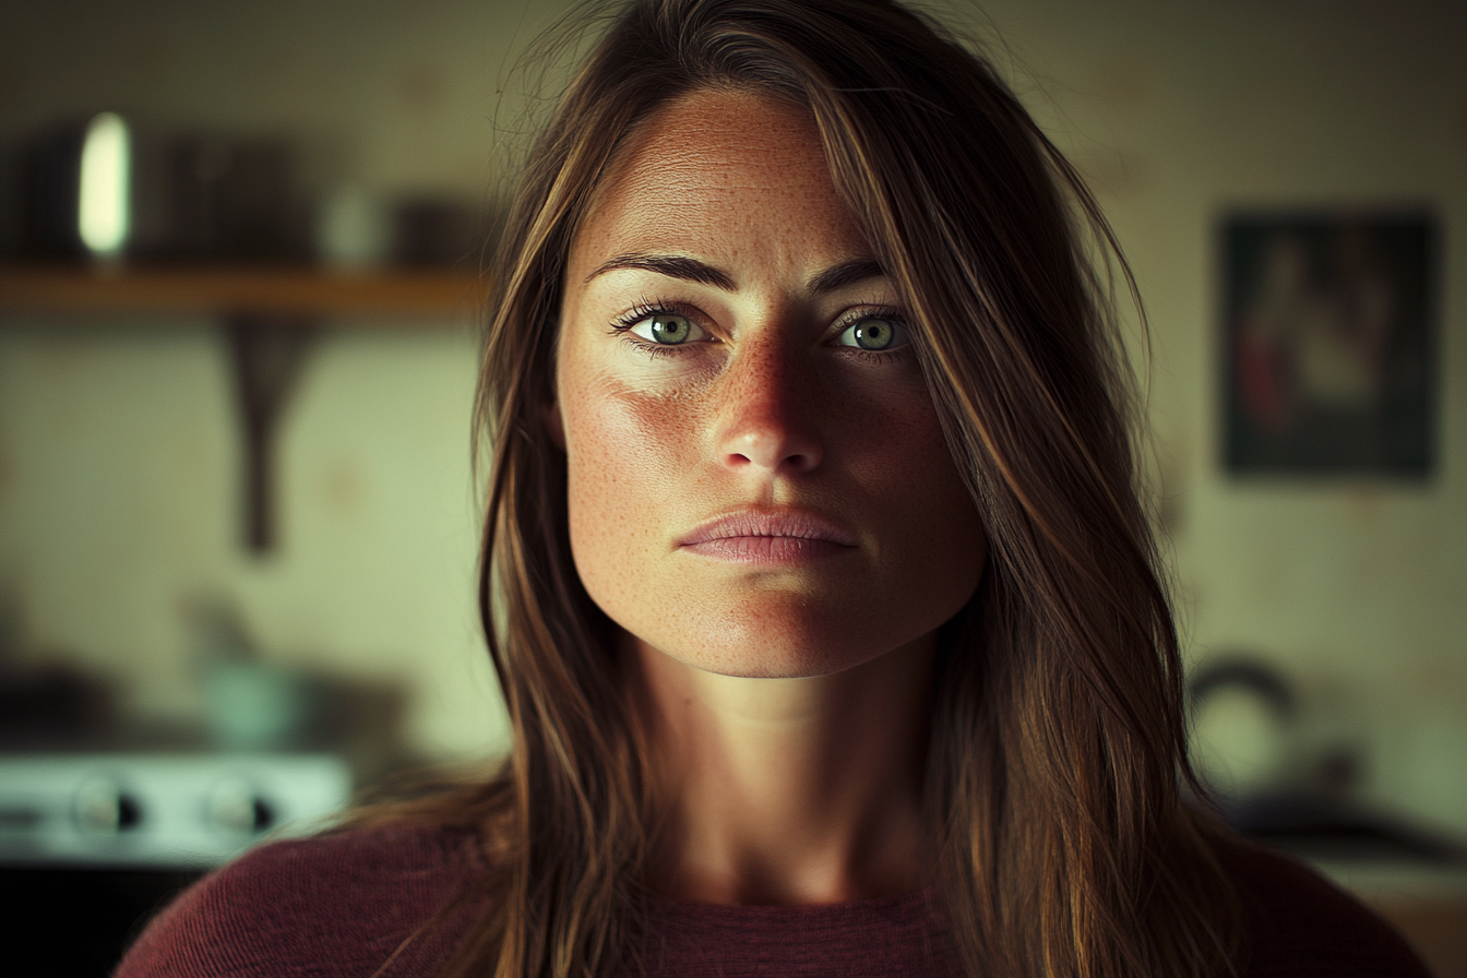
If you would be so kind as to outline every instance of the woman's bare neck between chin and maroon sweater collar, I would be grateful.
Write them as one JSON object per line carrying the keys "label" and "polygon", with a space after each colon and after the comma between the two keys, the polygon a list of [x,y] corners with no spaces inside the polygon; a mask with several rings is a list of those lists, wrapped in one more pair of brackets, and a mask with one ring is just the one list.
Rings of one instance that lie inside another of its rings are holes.
{"label": "woman's bare neck between chin and maroon sweater collar", "polygon": [[797,905],[921,883],[932,636],[801,679],[722,676],[631,645],[665,799],[654,889]]}

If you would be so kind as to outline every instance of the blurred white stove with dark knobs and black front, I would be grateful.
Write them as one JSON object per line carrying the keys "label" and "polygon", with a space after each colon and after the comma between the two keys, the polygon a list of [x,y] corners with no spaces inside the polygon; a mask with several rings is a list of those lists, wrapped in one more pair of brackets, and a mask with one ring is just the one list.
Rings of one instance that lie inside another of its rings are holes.
{"label": "blurred white stove with dark knobs and black front", "polygon": [[329,754],[0,754],[3,972],[106,978],[180,889],[351,790]]}

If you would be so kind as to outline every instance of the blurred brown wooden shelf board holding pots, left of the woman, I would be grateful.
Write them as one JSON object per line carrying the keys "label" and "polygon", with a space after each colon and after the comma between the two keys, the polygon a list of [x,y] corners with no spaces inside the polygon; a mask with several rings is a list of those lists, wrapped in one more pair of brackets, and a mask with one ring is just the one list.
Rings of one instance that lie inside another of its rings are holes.
{"label": "blurred brown wooden shelf board holding pots, left of the woman", "polygon": [[442,320],[475,312],[484,287],[478,274],[462,271],[0,265],[0,312]]}

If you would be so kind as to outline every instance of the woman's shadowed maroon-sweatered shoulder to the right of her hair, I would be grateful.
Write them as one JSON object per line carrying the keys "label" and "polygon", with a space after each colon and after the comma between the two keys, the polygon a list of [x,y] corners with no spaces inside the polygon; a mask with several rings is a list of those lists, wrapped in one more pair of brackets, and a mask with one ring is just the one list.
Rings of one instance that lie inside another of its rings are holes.
{"label": "woman's shadowed maroon-sweatered shoulder to the right of her hair", "polygon": [[1427,978],[1389,924],[1314,869],[1243,842],[1218,856],[1243,900],[1245,978]]}

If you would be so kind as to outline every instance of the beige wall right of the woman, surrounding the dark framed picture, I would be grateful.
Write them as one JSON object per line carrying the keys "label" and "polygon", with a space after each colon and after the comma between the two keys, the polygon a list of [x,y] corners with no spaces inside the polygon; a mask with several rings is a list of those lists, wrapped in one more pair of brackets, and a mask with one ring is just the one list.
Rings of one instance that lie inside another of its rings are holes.
{"label": "beige wall right of the woman, surrounding the dark framed picture", "polygon": [[[1152,419],[1194,658],[1301,688],[1366,790],[1467,828],[1467,37],[1461,4],[995,7],[1091,174],[1153,327]],[[1039,104],[1039,103],[1036,103]],[[1218,218],[1433,207],[1444,229],[1438,469],[1423,484],[1226,477]]]}

